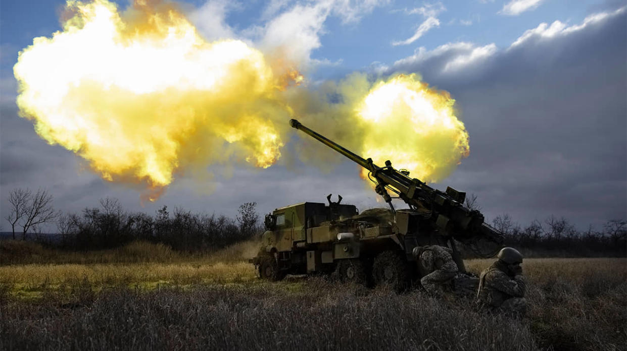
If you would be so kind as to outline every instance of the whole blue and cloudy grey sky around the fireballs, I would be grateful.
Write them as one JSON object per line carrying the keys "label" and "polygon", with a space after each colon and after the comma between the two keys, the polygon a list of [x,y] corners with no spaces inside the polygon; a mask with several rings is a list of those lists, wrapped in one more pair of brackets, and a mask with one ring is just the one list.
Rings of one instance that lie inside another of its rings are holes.
{"label": "whole blue and cloudy grey sky around the fireballs", "polygon": [[[98,206],[106,197],[150,214],[167,205],[234,216],[249,201],[268,213],[291,203],[325,202],[329,193],[339,193],[360,210],[382,206],[357,167],[332,151],[324,165],[298,160],[298,145],[307,136],[295,130],[275,165],[211,166],[202,180],[179,176],[154,203],[140,200],[134,188],[102,180],[79,156],[48,145],[31,121],[18,116],[13,76],[18,53],[33,38],[61,29],[64,4],[0,3],[3,218],[9,191],[26,187],[50,191],[55,207],[66,212]],[[300,64],[311,89],[354,72],[370,77],[418,73],[450,92],[470,135],[470,155],[448,178],[431,185],[477,195],[488,221],[507,213],[525,226],[563,216],[584,230],[627,217],[624,1],[180,4],[208,41],[241,39],[260,49],[290,43],[285,55]]]}

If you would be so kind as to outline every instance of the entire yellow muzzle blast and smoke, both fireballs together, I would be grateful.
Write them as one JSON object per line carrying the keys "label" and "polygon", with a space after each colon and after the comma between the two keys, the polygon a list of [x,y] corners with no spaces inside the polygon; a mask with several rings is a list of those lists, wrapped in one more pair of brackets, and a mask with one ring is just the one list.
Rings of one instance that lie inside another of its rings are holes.
{"label": "entire yellow muzzle blast and smoke, both fireballs together", "polygon": [[[299,86],[308,55],[286,54],[290,43],[262,52],[235,39],[209,42],[176,4],[159,0],[124,11],[107,0],[68,1],[62,24],[19,54],[19,113],[48,143],[148,200],[186,172],[275,164],[292,117],[423,181],[448,176],[468,155],[455,101],[415,74]],[[296,155],[329,164],[332,152],[314,144],[303,139]]]}

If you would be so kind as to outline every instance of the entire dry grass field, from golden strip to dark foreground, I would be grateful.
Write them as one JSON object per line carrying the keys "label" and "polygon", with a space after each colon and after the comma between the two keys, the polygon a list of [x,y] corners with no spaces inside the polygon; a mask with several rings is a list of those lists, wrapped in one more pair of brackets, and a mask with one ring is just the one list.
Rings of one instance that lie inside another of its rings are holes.
{"label": "entire dry grass field, from golden strip to dark foreground", "polygon": [[255,243],[189,257],[145,243],[28,250],[0,266],[0,350],[627,349],[625,258],[525,260],[530,310],[512,320],[419,290],[261,282],[244,260]]}

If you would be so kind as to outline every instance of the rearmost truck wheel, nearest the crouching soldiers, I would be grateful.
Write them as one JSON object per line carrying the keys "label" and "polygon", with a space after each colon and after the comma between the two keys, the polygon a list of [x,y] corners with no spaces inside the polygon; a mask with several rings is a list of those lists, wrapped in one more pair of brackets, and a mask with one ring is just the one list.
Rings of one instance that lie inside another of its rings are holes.
{"label": "rearmost truck wheel, nearest the crouching soldiers", "polygon": [[374,258],[372,277],[376,285],[387,285],[397,292],[409,287],[409,268],[407,262],[394,251],[384,251]]}

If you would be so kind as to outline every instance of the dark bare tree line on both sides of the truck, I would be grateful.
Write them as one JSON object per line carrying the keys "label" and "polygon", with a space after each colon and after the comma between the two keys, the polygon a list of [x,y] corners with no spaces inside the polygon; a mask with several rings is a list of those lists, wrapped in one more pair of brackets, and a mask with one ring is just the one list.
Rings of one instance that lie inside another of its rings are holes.
{"label": "dark bare tree line on both sides of the truck", "polygon": [[[214,250],[248,240],[261,233],[256,203],[244,203],[236,218],[192,213],[182,208],[170,212],[167,206],[154,216],[125,211],[119,201],[101,199],[98,206],[80,213],[61,213],[53,208],[53,197],[46,190],[15,189],[8,196],[10,213],[5,219],[23,240],[43,239],[43,225],[56,225],[55,245],[74,250],[114,248],[134,240],[164,243],[175,250]],[[480,210],[477,196],[470,195],[466,206]],[[527,255],[603,256],[627,255],[627,221],[609,220],[601,230],[589,226],[577,230],[566,218],[550,216],[526,226],[510,215],[499,215],[492,225],[503,233],[504,244]]]}

